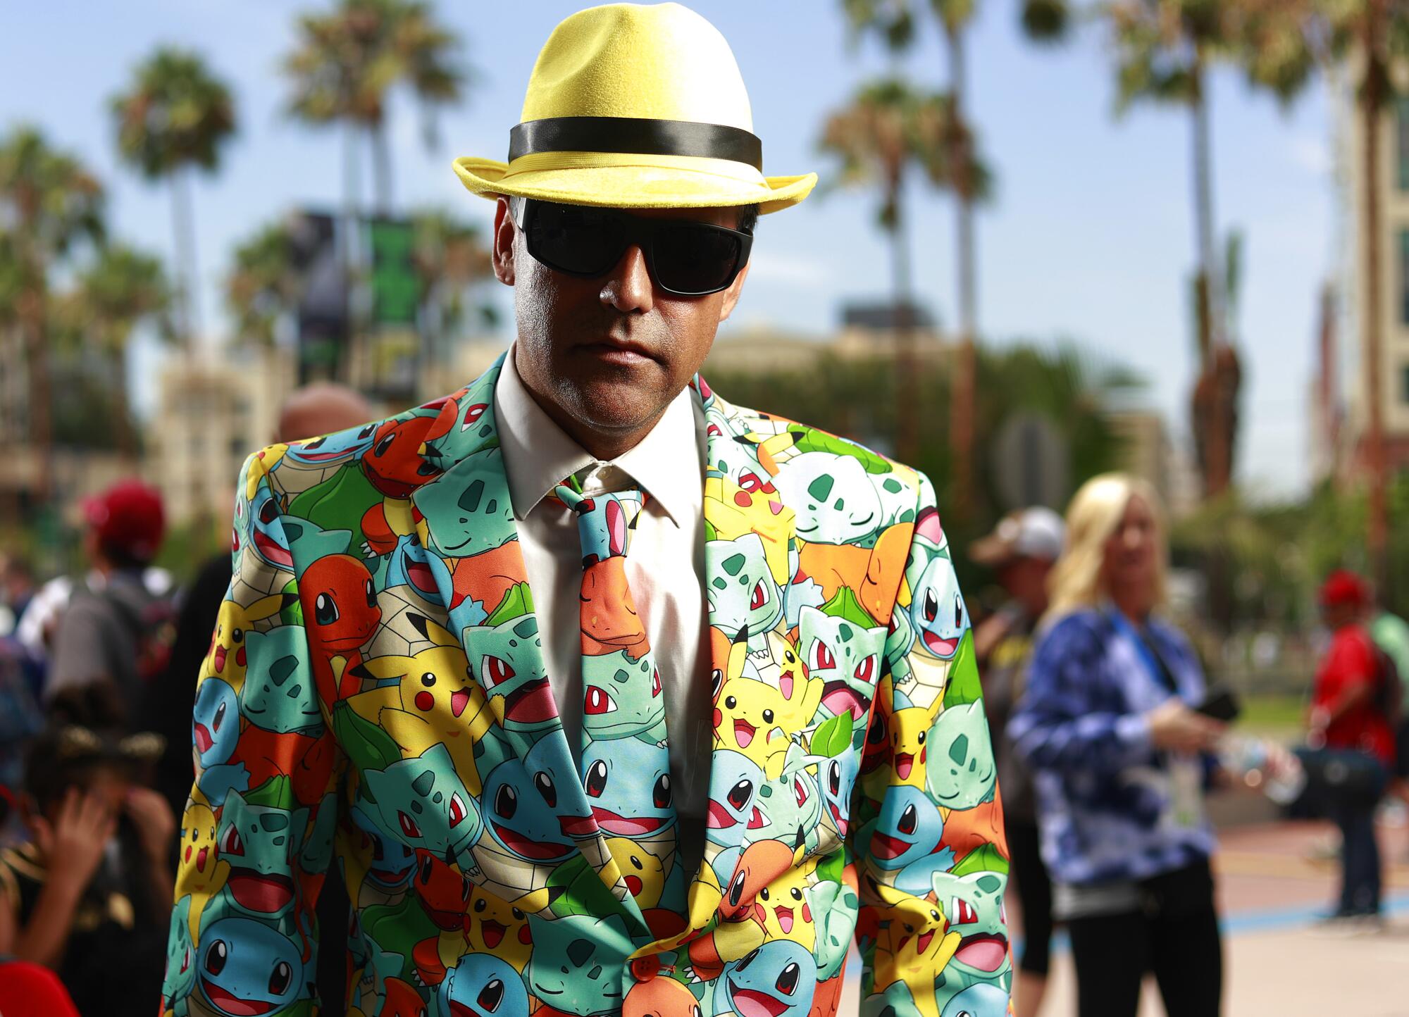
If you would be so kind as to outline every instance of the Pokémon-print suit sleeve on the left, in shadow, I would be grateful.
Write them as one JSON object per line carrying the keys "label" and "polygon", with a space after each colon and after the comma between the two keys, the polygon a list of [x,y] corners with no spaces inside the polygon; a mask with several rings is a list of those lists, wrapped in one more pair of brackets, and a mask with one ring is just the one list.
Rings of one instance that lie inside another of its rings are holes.
{"label": "Pok\u00e9mon-print suit sleeve on the left, in shadow", "polygon": [[[311,1013],[303,1000],[316,985],[314,906],[342,759],[292,609],[278,499],[262,469],[251,483],[255,461],[240,475],[232,578],[194,675],[196,779],[180,821],[162,986],[162,1014],[176,1017]],[[280,603],[286,610],[271,613]]]}

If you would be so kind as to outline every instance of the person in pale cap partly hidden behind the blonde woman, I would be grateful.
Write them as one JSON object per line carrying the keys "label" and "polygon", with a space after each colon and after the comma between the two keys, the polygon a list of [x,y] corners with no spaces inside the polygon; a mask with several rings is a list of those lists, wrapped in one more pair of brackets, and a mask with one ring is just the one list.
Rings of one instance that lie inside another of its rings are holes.
{"label": "person in pale cap partly hidden behind the blonde woman", "polygon": [[1009,600],[974,630],[974,656],[983,678],[983,711],[995,732],[998,785],[1003,797],[1012,878],[1023,914],[1023,952],[1013,985],[1013,1013],[1033,1017],[1043,1004],[1051,959],[1051,878],[1037,835],[1033,778],[1003,734],[1023,694],[1033,655],[1033,631],[1047,611],[1047,579],[1061,556],[1065,527],[1051,508],[1034,506],[1005,516],[976,541],[969,558],[995,570]]}

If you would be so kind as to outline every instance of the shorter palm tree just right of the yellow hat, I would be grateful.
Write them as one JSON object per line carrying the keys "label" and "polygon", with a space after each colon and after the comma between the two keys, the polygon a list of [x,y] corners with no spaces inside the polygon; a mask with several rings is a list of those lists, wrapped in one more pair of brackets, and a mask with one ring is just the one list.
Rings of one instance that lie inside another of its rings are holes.
{"label": "shorter palm tree just right of the yellow hat", "polygon": [[[917,401],[906,180],[917,170],[921,179],[937,187],[954,187],[961,176],[979,193],[988,187],[988,173],[975,159],[971,158],[962,169],[952,162],[952,114],[954,106],[947,93],[917,93],[900,79],[885,77],[862,85],[848,106],[833,111],[820,142],[824,154],[840,161],[843,186],[881,189],[878,221],[890,234],[902,407],[913,407]],[[902,413],[896,428],[896,455],[913,459],[916,444],[914,416]]]}

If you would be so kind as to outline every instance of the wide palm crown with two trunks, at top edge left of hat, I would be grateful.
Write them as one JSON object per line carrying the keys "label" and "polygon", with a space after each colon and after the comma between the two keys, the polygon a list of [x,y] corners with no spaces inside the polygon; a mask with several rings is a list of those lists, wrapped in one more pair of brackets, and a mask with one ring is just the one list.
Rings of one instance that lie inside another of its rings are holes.
{"label": "wide palm crown with two trunks, at top edge left of hat", "polygon": [[387,94],[407,86],[420,101],[427,144],[437,106],[455,103],[466,77],[457,59],[459,39],[437,24],[417,0],[341,0],[324,14],[299,17],[299,45],[285,58],[293,85],[289,113],[306,124],[345,128],[345,201],[356,213],[358,139],[371,135],[378,207],[392,208],[392,156],[386,132]]}

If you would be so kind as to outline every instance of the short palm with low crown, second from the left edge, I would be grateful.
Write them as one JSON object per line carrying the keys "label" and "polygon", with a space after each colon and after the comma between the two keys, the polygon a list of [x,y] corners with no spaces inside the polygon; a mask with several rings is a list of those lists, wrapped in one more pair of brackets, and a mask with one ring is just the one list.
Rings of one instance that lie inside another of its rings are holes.
{"label": "short palm with low crown, second from the left edge", "polygon": [[120,244],[106,245],[79,272],[75,289],[62,301],[63,317],[79,338],[83,359],[103,365],[111,379],[113,416],[117,420],[117,449],[137,455],[137,435],[127,401],[127,347],[142,321],[154,321],[170,337],[166,311],[170,286],[159,259]]}

